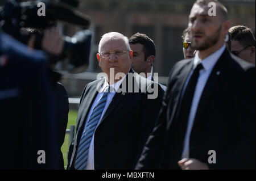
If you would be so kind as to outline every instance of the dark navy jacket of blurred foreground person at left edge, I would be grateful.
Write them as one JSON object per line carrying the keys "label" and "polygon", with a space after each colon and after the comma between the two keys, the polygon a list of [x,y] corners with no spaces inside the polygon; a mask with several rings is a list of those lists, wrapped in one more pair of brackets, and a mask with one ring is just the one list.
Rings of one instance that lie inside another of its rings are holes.
{"label": "dark navy jacket of blurred foreground person at left edge", "polygon": [[[2,56],[8,61],[0,64],[0,169],[56,169],[56,105],[44,53],[0,30]],[[46,163],[38,163],[39,150]]]}

